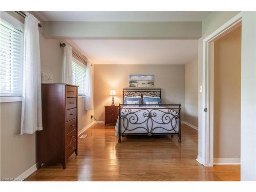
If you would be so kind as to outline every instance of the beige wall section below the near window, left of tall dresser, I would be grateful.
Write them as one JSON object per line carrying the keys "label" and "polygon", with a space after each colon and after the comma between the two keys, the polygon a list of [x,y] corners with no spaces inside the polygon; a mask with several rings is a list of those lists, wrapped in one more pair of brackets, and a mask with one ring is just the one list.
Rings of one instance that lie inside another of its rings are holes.
{"label": "beige wall section below the near window, left of tall dresser", "polygon": [[20,135],[22,102],[0,103],[1,177],[16,178],[36,163],[35,134]]}

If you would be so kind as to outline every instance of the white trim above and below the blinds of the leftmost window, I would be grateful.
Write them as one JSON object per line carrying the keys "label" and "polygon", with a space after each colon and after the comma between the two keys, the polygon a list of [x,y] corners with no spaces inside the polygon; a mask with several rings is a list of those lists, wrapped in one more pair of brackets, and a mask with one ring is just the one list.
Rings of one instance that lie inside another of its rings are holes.
{"label": "white trim above and below the blinds of the leftmost window", "polygon": [[[17,27],[19,30],[24,32],[24,24],[11,16],[10,14],[6,13],[5,11],[1,11],[1,18],[4,19],[9,24]],[[0,97],[0,103],[5,102],[21,102],[22,96],[2,96]]]}

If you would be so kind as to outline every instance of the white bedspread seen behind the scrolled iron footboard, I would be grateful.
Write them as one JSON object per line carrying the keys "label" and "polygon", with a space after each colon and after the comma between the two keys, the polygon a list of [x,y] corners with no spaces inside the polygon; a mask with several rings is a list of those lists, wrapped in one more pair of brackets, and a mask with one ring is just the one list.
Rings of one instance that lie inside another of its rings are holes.
{"label": "white bedspread seen behind the scrolled iron footboard", "polygon": [[[124,106],[121,109],[122,112],[122,116],[125,118],[121,118],[121,133],[179,132],[178,111],[169,110],[164,106]],[[118,126],[119,119],[115,126],[116,137],[118,136]]]}

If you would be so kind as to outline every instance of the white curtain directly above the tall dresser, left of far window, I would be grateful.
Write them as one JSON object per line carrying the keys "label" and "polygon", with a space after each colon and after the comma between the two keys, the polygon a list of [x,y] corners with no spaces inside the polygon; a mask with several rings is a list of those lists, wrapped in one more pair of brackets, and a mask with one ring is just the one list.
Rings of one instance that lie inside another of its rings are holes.
{"label": "white curtain directly above the tall dresser, left of far window", "polygon": [[66,44],[63,50],[62,82],[73,84],[72,75],[72,47]]}

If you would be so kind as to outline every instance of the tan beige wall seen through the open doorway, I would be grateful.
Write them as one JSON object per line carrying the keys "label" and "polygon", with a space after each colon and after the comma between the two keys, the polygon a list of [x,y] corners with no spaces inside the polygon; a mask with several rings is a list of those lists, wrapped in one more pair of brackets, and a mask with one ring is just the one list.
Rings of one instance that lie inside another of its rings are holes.
{"label": "tan beige wall seen through the open doorway", "polygon": [[214,158],[240,158],[241,26],[214,42]]}

